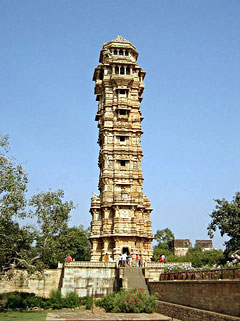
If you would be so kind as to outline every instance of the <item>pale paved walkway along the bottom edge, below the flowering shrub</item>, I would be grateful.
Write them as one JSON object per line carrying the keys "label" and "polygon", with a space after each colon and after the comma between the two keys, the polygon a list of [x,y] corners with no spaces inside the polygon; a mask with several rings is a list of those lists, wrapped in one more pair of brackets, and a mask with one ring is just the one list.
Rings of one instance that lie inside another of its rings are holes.
{"label": "pale paved walkway along the bottom edge, below the flowering shrub", "polygon": [[159,313],[91,313],[87,311],[50,312],[46,321],[170,321]]}

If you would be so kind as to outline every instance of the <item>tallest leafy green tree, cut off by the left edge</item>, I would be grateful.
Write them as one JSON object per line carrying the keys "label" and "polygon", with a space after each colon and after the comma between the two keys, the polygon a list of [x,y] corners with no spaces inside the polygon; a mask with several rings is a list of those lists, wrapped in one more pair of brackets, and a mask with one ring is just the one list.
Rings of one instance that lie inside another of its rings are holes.
{"label": "tallest leafy green tree, cut off by the left edge", "polygon": [[25,252],[31,248],[32,231],[20,227],[17,219],[25,211],[27,175],[22,166],[8,156],[8,136],[0,135],[0,270],[25,266]]}

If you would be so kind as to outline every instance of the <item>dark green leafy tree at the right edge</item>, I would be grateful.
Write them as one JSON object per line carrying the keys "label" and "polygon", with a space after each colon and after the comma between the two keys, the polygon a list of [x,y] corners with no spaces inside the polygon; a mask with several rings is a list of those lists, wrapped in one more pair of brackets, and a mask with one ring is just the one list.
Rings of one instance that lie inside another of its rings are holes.
{"label": "dark green leafy tree at the right edge", "polygon": [[215,209],[210,214],[211,223],[208,226],[208,235],[212,238],[214,232],[219,229],[221,236],[227,235],[229,240],[225,242],[226,252],[240,249],[240,192],[237,192],[232,201],[225,198],[216,199]]}

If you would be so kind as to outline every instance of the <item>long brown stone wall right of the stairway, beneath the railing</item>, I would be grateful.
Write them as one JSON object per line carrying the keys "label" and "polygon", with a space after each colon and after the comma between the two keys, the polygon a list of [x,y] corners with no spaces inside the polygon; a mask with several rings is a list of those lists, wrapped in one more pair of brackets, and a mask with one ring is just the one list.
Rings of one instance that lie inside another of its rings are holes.
{"label": "long brown stone wall right of the stairway, beneath the railing", "polygon": [[161,301],[240,317],[240,280],[174,280],[148,286]]}

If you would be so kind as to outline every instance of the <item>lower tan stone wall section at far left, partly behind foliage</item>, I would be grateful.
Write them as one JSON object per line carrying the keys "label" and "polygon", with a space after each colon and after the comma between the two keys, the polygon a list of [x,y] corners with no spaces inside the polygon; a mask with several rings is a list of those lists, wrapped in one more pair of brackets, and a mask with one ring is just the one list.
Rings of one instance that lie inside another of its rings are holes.
{"label": "lower tan stone wall section at far left, partly behind foliage", "polygon": [[44,273],[28,275],[27,271],[15,270],[0,280],[0,293],[29,292],[37,296],[49,297],[52,290],[61,287],[62,269],[45,270]]}

